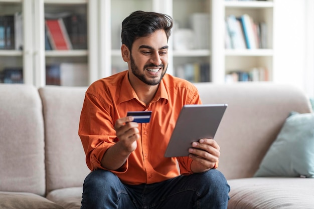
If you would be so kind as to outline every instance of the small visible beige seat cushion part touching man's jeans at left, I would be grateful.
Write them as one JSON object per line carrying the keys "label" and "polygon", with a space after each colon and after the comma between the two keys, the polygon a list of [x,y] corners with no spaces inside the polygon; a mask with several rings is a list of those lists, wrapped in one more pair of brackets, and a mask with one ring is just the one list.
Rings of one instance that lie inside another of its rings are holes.
{"label": "small visible beige seat cushion part touching man's jeans at left", "polygon": [[62,205],[65,209],[80,209],[82,200],[83,188],[80,187],[69,187],[55,189],[48,193],[46,196],[53,202],[57,202]]}

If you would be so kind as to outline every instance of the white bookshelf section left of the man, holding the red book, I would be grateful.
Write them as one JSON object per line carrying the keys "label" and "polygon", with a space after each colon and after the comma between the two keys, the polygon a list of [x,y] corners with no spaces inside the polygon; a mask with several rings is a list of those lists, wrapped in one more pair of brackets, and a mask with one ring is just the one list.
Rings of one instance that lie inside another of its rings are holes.
{"label": "white bookshelf section left of the man, holding the red book", "polygon": [[[66,11],[86,16],[88,48],[45,50],[45,13]],[[0,0],[0,15],[17,12],[23,14],[23,50],[0,50],[0,72],[8,67],[23,68],[24,83],[41,87],[46,85],[47,65],[83,63],[88,66],[89,84],[99,78],[97,0]]]}

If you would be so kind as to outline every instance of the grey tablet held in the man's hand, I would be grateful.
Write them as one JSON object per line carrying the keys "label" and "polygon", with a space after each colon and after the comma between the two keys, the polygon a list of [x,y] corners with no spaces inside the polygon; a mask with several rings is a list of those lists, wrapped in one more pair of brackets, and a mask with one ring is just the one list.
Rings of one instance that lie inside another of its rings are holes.
{"label": "grey tablet held in the man's hand", "polygon": [[227,104],[183,106],[171,135],[165,157],[189,155],[192,142],[202,138],[214,139]]}

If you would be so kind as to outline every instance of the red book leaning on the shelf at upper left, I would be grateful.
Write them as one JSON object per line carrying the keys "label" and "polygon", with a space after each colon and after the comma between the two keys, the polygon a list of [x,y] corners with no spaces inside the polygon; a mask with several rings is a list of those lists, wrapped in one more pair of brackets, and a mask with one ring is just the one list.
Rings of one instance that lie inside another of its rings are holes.
{"label": "red book leaning on the shelf at upper left", "polygon": [[54,50],[70,50],[72,45],[63,20],[46,20],[47,35]]}

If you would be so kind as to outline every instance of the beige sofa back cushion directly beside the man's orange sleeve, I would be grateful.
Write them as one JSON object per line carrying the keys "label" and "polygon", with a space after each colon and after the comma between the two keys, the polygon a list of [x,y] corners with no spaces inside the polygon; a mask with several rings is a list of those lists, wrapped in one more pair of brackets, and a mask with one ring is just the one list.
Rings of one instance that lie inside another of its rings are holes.
{"label": "beige sofa back cushion directly beside the man's orange sleeve", "polygon": [[47,192],[82,186],[90,172],[78,135],[86,89],[60,86],[39,89],[45,120]]}

